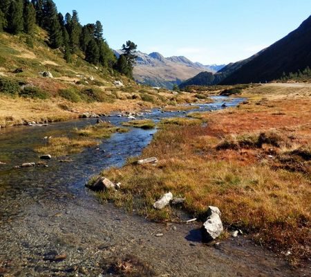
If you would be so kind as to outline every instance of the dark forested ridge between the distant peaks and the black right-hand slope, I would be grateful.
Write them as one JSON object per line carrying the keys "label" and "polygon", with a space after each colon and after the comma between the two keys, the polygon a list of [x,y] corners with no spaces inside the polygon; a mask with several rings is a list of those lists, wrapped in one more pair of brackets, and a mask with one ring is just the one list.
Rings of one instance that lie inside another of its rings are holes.
{"label": "dark forested ridge between the distant peaks and the black right-hand slope", "polygon": [[[180,89],[184,89],[187,86],[211,86],[214,84],[218,84],[221,81],[223,81],[227,76],[232,74],[234,71],[240,69],[244,64],[247,64],[247,62],[250,62],[251,60],[254,60],[255,57],[257,57],[262,51],[256,53],[255,55],[252,55],[252,57],[249,57],[245,60],[241,60],[238,62],[231,62],[230,64],[227,64],[226,66],[218,67],[217,65],[209,66],[210,69],[214,68],[220,68],[220,70],[217,73],[212,72],[200,72],[198,75],[195,75],[192,78],[189,78],[188,80],[185,80],[182,82],[179,87]],[[197,63],[198,64],[198,63]]]}

